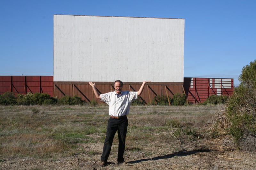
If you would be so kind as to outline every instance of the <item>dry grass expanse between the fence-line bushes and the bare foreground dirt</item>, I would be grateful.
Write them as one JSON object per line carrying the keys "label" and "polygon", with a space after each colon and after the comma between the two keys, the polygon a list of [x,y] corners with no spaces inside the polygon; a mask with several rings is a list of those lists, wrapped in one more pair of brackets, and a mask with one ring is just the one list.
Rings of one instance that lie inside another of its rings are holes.
{"label": "dry grass expanse between the fence-line bushes and the bare foreground dirt", "polygon": [[[140,150],[145,139],[177,141],[177,128],[207,127],[219,107],[132,106],[127,141],[138,146],[127,150]],[[58,158],[85,152],[79,144],[104,141],[108,106],[0,106],[0,116],[2,156]]]}

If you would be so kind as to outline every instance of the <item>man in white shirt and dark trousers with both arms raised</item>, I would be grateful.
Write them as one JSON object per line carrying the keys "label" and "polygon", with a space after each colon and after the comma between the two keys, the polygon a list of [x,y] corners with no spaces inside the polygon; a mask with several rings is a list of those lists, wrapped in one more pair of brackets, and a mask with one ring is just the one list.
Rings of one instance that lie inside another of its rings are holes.
{"label": "man in white shirt and dark trousers with both arms raised", "polygon": [[99,94],[96,90],[95,83],[89,82],[92,86],[93,92],[97,99],[104,101],[109,105],[109,120],[107,134],[103,145],[103,152],[101,155],[101,166],[107,165],[108,156],[111,151],[111,146],[115,133],[118,134],[118,155],[117,163],[124,163],[124,148],[125,148],[125,137],[128,126],[128,119],[126,117],[129,114],[131,102],[140,96],[144,89],[144,85],[151,81],[144,81],[138,92],[122,91],[123,82],[116,80],[114,92],[108,92],[105,94]]}

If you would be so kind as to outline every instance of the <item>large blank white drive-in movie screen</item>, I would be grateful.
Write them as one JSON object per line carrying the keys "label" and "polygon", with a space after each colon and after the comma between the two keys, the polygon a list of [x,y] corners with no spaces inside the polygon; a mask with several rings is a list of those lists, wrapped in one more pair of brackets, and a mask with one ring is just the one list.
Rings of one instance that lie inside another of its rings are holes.
{"label": "large blank white drive-in movie screen", "polygon": [[54,81],[183,82],[184,19],[54,15]]}

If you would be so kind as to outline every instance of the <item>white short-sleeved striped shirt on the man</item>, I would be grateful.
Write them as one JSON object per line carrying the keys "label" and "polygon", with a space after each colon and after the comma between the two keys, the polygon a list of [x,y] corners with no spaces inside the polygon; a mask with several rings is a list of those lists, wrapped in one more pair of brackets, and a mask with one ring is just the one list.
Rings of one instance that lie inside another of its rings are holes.
{"label": "white short-sleeved striped shirt on the man", "polygon": [[116,92],[100,94],[100,101],[109,106],[108,115],[120,117],[129,114],[131,102],[138,98],[138,92],[122,91],[117,96]]}

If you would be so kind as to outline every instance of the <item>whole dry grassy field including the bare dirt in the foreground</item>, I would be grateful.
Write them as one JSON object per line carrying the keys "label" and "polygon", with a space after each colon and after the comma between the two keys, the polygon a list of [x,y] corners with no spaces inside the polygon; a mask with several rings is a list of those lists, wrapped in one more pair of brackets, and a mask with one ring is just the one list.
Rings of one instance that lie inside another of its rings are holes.
{"label": "whole dry grassy field including the bare dirt in the foreground", "polygon": [[255,153],[214,137],[216,106],[132,106],[124,159],[117,134],[101,167],[108,106],[0,106],[0,169],[256,169]]}

